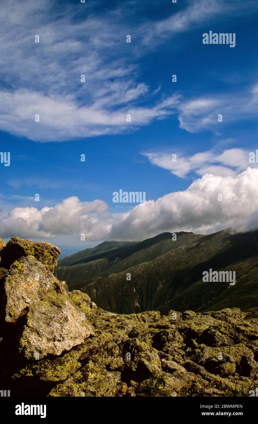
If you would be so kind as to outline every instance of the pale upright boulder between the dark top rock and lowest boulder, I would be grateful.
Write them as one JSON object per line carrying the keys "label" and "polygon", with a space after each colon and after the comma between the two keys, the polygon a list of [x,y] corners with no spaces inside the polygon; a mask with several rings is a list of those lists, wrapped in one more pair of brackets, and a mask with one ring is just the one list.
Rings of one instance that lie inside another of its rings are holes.
{"label": "pale upright boulder between the dark top rock and lowest boulder", "polygon": [[6,322],[16,322],[26,309],[44,298],[51,288],[64,287],[35,257],[21,257],[9,269],[5,279]]}

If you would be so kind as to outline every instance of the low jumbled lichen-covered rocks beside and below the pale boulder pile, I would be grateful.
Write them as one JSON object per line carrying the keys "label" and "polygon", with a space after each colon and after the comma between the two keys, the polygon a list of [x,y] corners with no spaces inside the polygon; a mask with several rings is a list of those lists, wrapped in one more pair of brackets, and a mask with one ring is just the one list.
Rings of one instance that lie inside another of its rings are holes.
{"label": "low jumbled lichen-covered rocks beside and below the pale boulder pile", "polygon": [[[92,308],[89,296],[79,291],[64,297],[89,319],[95,333],[62,357],[39,359],[16,371],[13,379],[21,387],[51,384],[52,388],[42,389],[49,396],[249,396],[256,384],[255,313],[244,324],[242,317],[230,324],[190,311],[178,314],[175,322],[170,315],[156,312],[119,315]],[[200,332],[194,321],[200,324]],[[250,330],[245,344],[232,346],[241,325]],[[223,343],[228,340],[229,346],[199,343],[202,337],[203,342],[210,342],[205,337],[209,328],[211,334],[214,328],[230,332]]]}

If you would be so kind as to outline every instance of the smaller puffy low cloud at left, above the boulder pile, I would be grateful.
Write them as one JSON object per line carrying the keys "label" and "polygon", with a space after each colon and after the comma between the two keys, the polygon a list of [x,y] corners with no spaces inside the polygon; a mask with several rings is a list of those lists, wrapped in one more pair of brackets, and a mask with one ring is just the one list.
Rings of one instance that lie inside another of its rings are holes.
{"label": "smaller puffy low cloud at left, above the boulder pile", "polygon": [[0,233],[3,238],[46,238],[83,232],[86,240],[98,240],[111,228],[109,215],[104,214],[107,208],[102,200],[81,202],[76,196],[54,207],[17,207],[1,221]]}

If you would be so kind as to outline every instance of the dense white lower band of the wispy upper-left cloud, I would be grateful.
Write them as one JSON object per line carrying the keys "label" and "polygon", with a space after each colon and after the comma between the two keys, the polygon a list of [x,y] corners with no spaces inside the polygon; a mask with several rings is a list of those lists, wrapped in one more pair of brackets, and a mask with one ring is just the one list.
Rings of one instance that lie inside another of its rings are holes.
{"label": "dense white lower band of the wispy upper-left cloud", "polygon": [[[130,90],[129,90],[130,91]],[[129,92],[129,96],[132,92]],[[94,137],[129,131],[156,118],[175,113],[177,96],[152,107],[122,107],[118,111],[100,109],[97,104],[81,106],[71,97],[50,98],[38,92],[0,92],[0,128],[12,134],[39,141]],[[39,114],[39,122],[35,115]],[[127,114],[131,122],[127,123]]]}

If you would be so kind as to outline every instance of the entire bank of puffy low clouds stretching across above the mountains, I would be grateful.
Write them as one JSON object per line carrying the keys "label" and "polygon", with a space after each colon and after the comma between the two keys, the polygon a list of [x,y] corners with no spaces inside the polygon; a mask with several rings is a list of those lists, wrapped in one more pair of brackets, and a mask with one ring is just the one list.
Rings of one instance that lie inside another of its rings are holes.
{"label": "entire bank of puffy low clouds stretching across above the mountains", "polygon": [[258,168],[248,167],[237,176],[205,174],[184,191],[113,216],[101,200],[81,202],[70,197],[41,210],[13,209],[1,221],[0,234],[47,238],[84,233],[86,240],[143,240],[161,232],[209,234],[228,227],[247,231],[258,228],[257,187]]}

